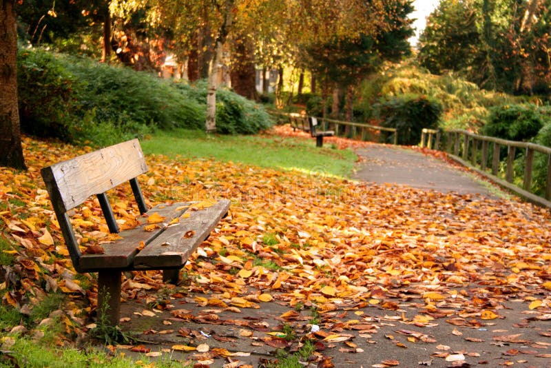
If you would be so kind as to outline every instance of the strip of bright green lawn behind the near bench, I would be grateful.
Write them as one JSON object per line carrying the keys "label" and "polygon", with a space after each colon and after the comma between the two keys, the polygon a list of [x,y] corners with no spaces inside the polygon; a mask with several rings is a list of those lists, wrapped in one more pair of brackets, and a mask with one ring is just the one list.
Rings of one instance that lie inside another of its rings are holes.
{"label": "strip of bright green lawn behind the near bench", "polygon": [[308,141],[278,136],[220,136],[199,130],[158,131],[141,141],[146,154],[164,154],[171,158],[233,161],[260,167],[317,172],[349,177],[356,155],[352,150],[315,147]]}

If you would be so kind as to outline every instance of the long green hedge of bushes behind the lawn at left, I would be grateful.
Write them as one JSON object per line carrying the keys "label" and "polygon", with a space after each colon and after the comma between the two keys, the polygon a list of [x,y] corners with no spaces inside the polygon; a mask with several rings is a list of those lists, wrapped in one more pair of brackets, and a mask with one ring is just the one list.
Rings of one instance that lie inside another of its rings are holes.
{"label": "long green hedge of bushes behind the lawn at left", "polygon": [[[18,66],[21,127],[27,134],[109,145],[157,127],[205,128],[205,82],[191,87],[34,49],[21,50]],[[264,108],[229,90],[218,90],[217,101],[222,134],[253,134],[272,125]]]}

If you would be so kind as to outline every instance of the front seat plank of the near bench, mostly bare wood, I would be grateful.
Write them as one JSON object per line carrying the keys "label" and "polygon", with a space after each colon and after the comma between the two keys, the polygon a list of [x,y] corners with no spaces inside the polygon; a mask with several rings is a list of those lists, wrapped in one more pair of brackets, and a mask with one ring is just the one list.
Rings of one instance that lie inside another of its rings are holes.
{"label": "front seat plank of the near bench, mostly bare wood", "polygon": [[188,210],[186,214],[189,214],[189,218],[180,218],[179,223],[167,227],[134,257],[134,269],[182,267],[196,247],[208,238],[228,209],[229,201],[222,199],[205,209]]}

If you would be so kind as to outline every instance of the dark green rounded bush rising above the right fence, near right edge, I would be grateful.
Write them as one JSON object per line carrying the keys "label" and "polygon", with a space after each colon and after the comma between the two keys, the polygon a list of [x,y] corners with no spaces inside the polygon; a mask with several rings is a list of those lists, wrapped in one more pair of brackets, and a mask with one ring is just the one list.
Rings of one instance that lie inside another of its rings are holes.
{"label": "dark green rounded bush rising above the right fence, near right edge", "polygon": [[538,134],[550,113],[550,108],[539,108],[531,103],[496,106],[490,109],[488,123],[482,132],[510,141],[528,141]]}

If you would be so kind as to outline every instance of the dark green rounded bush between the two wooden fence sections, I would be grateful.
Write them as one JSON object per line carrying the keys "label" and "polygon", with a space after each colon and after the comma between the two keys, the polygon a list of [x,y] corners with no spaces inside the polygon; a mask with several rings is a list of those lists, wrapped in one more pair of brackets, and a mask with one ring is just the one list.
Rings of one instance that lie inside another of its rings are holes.
{"label": "dark green rounded bush between the two wooden fence sections", "polygon": [[436,128],[442,105],[436,99],[416,94],[404,94],[383,100],[375,106],[382,126],[398,130],[398,143],[417,145],[423,128]]}

